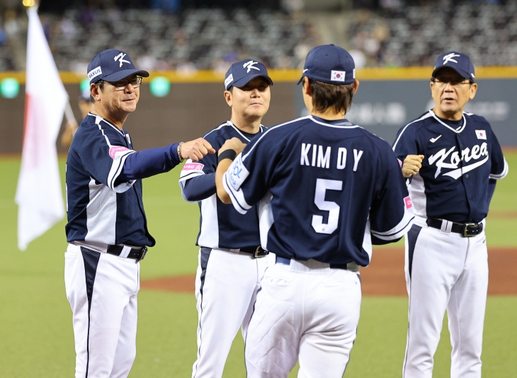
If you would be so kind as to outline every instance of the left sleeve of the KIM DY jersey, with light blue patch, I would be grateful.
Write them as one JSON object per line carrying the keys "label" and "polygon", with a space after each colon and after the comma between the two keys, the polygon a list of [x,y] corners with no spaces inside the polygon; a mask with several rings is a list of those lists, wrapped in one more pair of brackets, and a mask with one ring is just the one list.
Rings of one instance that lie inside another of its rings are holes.
{"label": "left sleeve of the KIM DY jersey, with light blue patch", "polygon": [[252,139],[222,176],[222,185],[235,210],[241,214],[246,214],[268,193],[277,154],[282,151],[271,136],[272,130],[268,129],[261,137]]}

